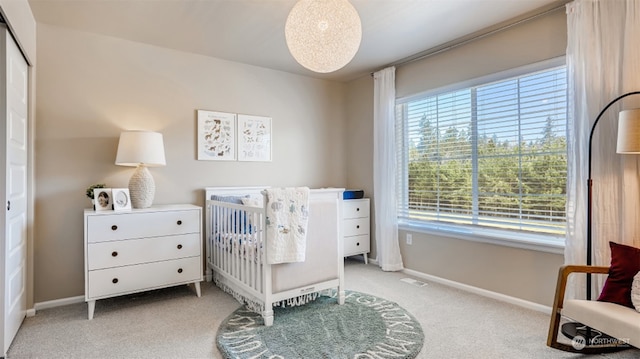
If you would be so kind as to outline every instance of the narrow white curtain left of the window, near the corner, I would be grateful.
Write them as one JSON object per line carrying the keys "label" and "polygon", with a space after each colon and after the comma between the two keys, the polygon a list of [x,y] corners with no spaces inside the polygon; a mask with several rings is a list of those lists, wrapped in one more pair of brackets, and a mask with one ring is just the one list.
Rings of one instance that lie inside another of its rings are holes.
{"label": "narrow white curtain left of the window, near the corner", "polygon": [[396,213],[396,68],[388,67],[374,73],[373,81],[373,199],[377,261],[384,271],[398,271],[403,269],[403,265]]}

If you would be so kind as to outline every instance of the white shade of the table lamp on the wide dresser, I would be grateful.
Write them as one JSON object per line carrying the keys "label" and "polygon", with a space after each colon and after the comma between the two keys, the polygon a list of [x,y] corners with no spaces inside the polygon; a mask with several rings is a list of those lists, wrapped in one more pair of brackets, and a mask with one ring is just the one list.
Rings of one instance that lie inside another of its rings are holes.
{"label": "white shade of the table lamp on the wide dresser", "polygon": [[120,134],[116,165],[147,167],[166,165],[162,134],[151,131],[124,131]]}

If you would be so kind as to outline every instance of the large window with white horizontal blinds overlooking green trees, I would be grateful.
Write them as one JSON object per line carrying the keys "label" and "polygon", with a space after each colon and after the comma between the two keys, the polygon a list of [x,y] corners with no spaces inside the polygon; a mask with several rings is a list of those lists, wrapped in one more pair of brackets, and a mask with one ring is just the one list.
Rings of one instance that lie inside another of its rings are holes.
{"label": "large window with white horizontal blinds overlooking green trees", "polygon": [[564,236],[566,68],[527,71],[397,101],[401,223]]}

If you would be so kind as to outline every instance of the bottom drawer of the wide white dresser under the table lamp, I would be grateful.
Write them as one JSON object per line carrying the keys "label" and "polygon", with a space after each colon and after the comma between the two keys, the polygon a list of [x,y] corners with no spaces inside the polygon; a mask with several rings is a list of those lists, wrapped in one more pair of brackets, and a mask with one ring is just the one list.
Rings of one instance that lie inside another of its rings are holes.
{"label": "bottom drawer of the wide white dresser under the table lamp", "polygon": [[200,257],[88,272],[86,300],[202,280]]}

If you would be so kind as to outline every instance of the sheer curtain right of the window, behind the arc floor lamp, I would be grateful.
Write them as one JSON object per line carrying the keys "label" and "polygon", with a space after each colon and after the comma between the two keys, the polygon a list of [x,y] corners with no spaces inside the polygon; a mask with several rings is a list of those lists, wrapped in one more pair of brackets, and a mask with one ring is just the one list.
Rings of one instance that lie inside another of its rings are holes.
{"label": "sheer curtain right of the window, behind the arc floor lamp", "polygon": [[[576,0],[567,5],[567,30],[570,135],[565,263],[585,264],[589,133],[609,102],[640,90],[640,1]],[[640,246],[640,156],[616,154],[618,112],[637,107],[640,96],[628,96],[612,105],[595,128],[591,159],[594,265],[610,264],[609,241]],[[584,276],[574,277],[567,295],[584,298]],[[603,282],[602,276],[594,276],[592,298],[597,298]]]}

